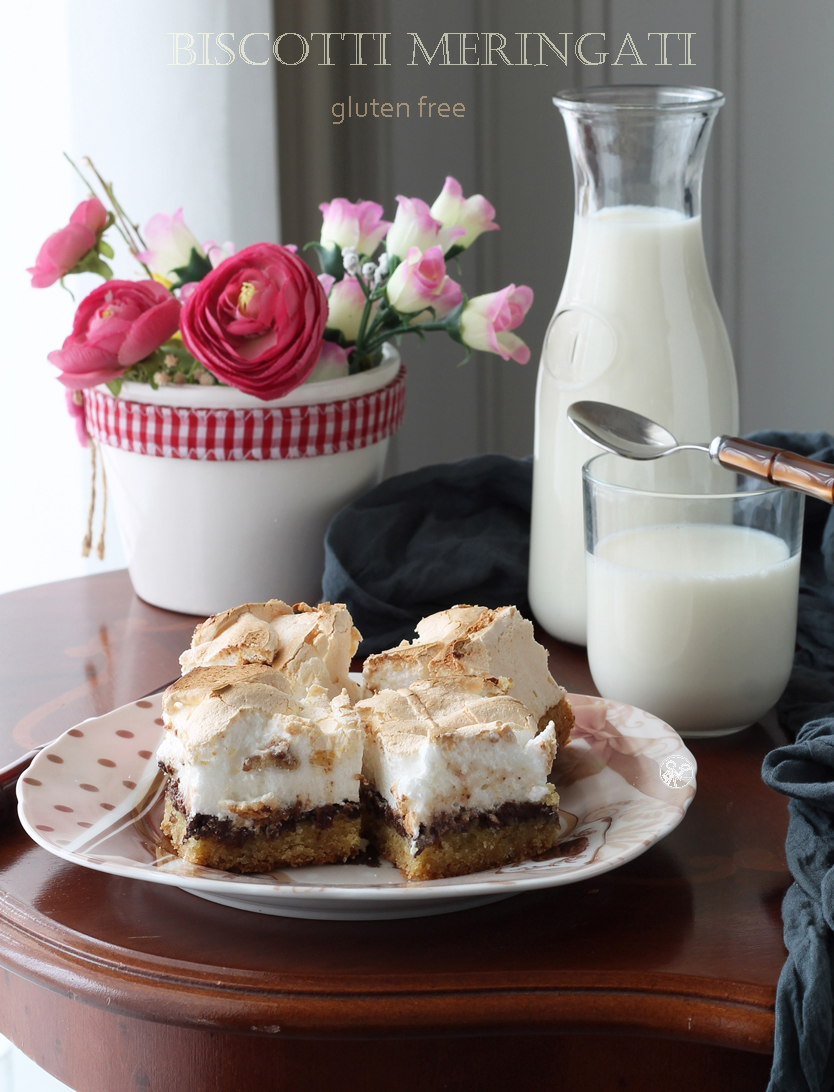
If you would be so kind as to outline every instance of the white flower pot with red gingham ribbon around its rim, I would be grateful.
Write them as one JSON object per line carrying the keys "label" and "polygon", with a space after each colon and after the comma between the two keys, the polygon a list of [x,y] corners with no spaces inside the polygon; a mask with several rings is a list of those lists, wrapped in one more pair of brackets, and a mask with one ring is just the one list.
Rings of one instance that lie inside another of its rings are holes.
{"label": "white flower pot with red gingham ribbon around its rim", "polygon": [[377,485],[405,408],[380,368],[261,402],[224,387],[85,392],[131,581],[147,603],[211,615],[274,597],[318,603],[332,517]]}

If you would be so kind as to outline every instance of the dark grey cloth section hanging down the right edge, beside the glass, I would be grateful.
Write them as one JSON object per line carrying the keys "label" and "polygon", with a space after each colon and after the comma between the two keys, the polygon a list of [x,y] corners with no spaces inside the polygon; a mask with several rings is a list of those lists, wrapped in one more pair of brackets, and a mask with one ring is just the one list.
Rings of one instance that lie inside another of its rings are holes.
{"label": "dark grey cloth section hanging down the right edge, beside the glass", "polygon": [[[834,463],[825,432],[753,439]],[[764,760],[766,785],[790,797],[782,906],[788,958],[776,993],[769,1092],[834,1090],[834,511],[807,499],[794,670],[779,721],[796,743]]]}

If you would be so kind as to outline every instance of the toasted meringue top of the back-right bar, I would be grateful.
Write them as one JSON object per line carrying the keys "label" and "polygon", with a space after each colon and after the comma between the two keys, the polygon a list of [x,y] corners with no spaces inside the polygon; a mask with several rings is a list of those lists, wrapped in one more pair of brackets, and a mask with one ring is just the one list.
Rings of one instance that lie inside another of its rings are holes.
{"label": "toasted meringue top of the back-right bar", "polygon": [[510,680],[510,693],[544,726],[565,691],[550,675],[547,651],[533,624],[515,607],[456,606],[424,618],[410,644],[369,656],[365,680],[371,692],[408,687],[418,679],[482,675]]}

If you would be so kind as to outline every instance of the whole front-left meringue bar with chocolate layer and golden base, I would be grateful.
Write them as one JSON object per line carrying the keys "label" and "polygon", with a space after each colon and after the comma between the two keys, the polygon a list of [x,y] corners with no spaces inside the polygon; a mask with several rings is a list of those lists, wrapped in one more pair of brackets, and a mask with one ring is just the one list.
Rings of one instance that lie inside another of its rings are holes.
{"label": "whole front-left meringue bar with chocolate layer and golden base", "polygon": [[303,700],[260,665],[198,667],[165,691],[162,829],[196,865],[263,873],[359,851],[362,735],[346,693]]}

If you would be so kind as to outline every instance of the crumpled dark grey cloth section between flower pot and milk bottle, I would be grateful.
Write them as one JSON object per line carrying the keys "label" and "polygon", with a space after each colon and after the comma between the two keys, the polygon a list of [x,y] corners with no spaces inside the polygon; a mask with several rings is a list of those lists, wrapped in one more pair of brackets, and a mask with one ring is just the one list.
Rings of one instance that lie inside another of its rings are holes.
{"label": "crumpled dark grey cloth section between flower pot and milk bottle", "polygon": [[359,655],[412,639],[456,603],[514,603],[531,617],[527,553],[533,466],[478,455],[389,478],[334,517],[323,596],[347,604]]}

